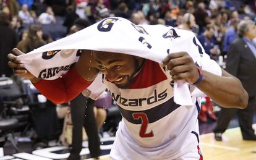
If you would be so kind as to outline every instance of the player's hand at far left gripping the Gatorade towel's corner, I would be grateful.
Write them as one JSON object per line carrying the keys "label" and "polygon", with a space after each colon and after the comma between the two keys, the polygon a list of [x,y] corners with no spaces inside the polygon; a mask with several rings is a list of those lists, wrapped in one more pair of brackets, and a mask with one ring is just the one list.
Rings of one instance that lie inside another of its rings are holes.
{"label": "player's hand at far left gripping the Gatorade towel's corner", "polygon": [[28,78],[31,80],[35,78],[35,76],[30,74],[30,72],[24,68],[24,64],[22,64],[18,59],[18,56],[22,54],[25,53],[22,53],[22,51],[17,48],[12,49],[12,53],[7,55],[7,58],[9,59],[8,65],[12,68],[15,75],[19,75],[22,78]]}

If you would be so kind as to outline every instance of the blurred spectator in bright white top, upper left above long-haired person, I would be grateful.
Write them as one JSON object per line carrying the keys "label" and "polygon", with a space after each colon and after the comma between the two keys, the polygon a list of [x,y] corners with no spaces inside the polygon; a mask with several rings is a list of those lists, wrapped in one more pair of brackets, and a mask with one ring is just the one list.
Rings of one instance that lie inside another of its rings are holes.
{"label": "blurred spectator in bright white top, upper left above long-haired person", "polygon": [[53,12],[53,9],[51,9],[51,6],[48,6],[46,8],[46,11],[39,15],[38,22],[40,22],[43,25],[56,23],[54,12]]}

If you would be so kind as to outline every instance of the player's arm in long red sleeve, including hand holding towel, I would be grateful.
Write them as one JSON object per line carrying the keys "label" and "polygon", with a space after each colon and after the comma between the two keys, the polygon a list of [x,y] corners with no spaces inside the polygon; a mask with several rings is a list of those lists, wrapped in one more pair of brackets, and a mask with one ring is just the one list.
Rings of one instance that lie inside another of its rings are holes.
{"label": "player's arm in long red sleeve, including hand holding towel", "polygon": [[[30,74],[30,72],[24,68],[24,65],[20,63],[19,59],[17,59],[17,56],[21,54],[24,53],[19,51],[19,49],[13,49],[12,54],[8,54],[8,59],[10,60],[8,62],[9,67],[12,67],[15,75],[30,79],[40,93],[56,104],[66,103],[74,99],[82,90],[92,83],[98,74],[98,70],[87,63],[87,61],[90,61],[88,60],[90,59],[89,51],[83,51],[83,54],[80,56],[81,59],[79,59],[77,64],[63,75],[63,77],[55,80],[42,80]],[[87,71],[87,73],[83,73],[85,71]]]}

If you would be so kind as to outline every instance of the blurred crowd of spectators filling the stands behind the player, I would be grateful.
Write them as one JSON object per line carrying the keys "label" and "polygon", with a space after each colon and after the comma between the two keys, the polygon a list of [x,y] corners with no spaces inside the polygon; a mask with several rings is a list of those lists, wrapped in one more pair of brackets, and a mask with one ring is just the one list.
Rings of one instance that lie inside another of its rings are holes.
{"label": "blurred crowd of spectators filling the stands behind the player", "polygon": [[[0,0],[0,76],[12,75],[7,66],[7,54],[13,48],[28,53],[114,16],[129,19],[135,25],[162,24],[190,30],[205,52],[225,69],[228,48],[237,38],[237,25],[241,20],[256,22],[256,1]],[[211,100],[205,98],[199,120],[207,122],[209,117],[216,120],[214,112]],[[105,124],[105,119],[106,115],[100,120],[100,126]],[[116,127],[117,123],[114,125]],[[55,133],[54,127],[51,133]]]}

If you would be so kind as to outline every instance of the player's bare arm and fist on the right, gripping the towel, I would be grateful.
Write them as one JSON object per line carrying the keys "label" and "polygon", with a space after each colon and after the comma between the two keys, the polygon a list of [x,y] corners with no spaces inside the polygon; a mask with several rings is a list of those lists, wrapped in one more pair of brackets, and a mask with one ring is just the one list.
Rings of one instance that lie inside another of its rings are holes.
{"label": "player's bare arm and fist on the right, gripping the towel", "polygon": [[[167,65],[173,80],[186,80],[188,83],[195,83],[200,74],[192,57],[186,52],[168,54],[163,60]],[[242,83],[228,72],[222,70],[222,76],[211,74],[202,70],[203,78],[197,84],[197,88],[213,101],[223,107],[237,107],[244,109],[248,103],[248,94]]]}

